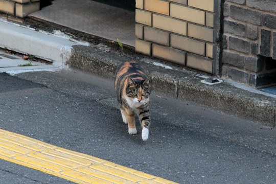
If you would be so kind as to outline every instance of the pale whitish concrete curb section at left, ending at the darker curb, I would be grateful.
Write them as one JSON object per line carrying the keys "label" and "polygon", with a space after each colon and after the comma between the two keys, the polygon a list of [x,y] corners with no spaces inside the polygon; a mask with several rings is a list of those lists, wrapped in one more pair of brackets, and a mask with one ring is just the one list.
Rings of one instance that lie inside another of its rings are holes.
{"label": "pale whitish concrete curb section at left, ending at the darker curb", "polygon": [[0,19],[0,48],[51,61],[62,66],[78,42],[35,31]]}

